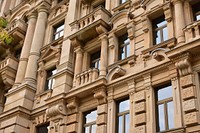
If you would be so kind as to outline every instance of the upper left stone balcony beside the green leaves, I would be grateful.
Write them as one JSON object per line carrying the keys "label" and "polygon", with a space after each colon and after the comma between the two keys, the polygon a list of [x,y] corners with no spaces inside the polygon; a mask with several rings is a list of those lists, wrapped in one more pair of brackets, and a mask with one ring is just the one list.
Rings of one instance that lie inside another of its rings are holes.
{"label": "upper left stone balcony beside the green leaves", "polygon": [[14,37],[14,43],[24,40],[26,29],[27,24],[22,19],[15,20],[8,26],[9,34]]}

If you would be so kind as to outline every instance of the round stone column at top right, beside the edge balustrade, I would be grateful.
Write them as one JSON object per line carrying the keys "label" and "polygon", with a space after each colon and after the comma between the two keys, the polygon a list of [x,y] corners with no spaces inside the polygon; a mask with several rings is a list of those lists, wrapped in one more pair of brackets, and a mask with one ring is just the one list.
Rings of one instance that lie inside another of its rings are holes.
{"label": "round stone column at top right, beside the edge balustrade", "polygon": [[185,41],[183,28],[185,27],[185,18],[183,10],[183,0],[173,0],[175,9],[175,28],[177,43],[183,43]]}

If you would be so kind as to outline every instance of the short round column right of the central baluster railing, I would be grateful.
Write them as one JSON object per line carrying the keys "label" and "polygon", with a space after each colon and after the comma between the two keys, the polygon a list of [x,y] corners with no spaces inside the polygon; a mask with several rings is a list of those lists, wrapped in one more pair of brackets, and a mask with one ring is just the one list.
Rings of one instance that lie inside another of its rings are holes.
{"label": "short round column right of the central baluster railing", "polygon": [[100,36],[101,39],[101,57],[100,57],[100,76],[106,76],[106,67],[108,64],[108,38],[106,34]]}

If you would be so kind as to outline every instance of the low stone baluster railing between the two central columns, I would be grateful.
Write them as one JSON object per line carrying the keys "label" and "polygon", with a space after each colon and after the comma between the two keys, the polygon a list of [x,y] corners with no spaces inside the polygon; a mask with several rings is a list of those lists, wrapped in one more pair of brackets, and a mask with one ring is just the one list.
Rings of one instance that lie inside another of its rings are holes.
{"label": "low stone baluster railing between the two central columns", "polygon": [[99,70],[96,68],[89,69],[87,71],[84,71],[80,74],[76,75],[76,87],[80,85],[84,85],[87,83],[91,83],[98,79],[99,77]]}

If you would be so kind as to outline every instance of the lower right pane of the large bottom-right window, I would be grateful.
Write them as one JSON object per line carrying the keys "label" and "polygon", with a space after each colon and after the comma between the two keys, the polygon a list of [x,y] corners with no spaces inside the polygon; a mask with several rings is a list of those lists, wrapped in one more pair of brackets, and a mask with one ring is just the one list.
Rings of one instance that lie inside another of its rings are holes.
{"label": "lower right pane of the large bottom-right window", "polygon": [[169,129],[174,128],[174,104],[172,101],[167,103],[167,113]]}

